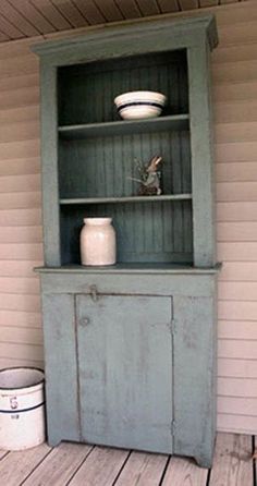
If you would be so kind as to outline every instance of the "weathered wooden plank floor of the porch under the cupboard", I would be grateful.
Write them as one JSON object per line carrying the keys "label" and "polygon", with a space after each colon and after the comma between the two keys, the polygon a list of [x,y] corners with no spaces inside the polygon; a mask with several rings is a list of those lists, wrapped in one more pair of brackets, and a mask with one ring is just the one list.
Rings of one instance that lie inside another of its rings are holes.
{"label": "weathered wooden plank floor of the porch under the cupboard", "polygon": [[[237,437],[234,435],[233,444],[233,438],[229,440],[227,434],[221,434],[221,441],[218,440],[216,447],[216,458],[218,458],[213,474],[213,479],[217,479],[217,483],[213,483],[216,486],[221,484],[223,486],[241,486],[244,484],[247,486],[255,486],[254,475],[252,477],[249,475],[250,465],[252,469],[255,467],[248,447],[250,440],[252,437],[246,438],[245,436]],[[222,441],[224,442],[223,446]],[[41,446],[39,446],[39,448]],[[34,451],[37,449],[38,448],[35,448]],[[52,481],[54,481],[54,485],[57,486],[64,486],[64,484],[71,484],[72,486],[120,486],[120,484],[123,485],[123,482],[120,483],[120,478],[124,471],[130,471],[131,473],[131,475],[127,475],[124,486],[157,486],[160,484],[163,486],[206,486],[208,484],[208,471],[197,467],[197,465],[189,459],[171,458],[168,469],[163,467],[163,477],[160,483],[158,481],[158,469],[160,469],[158,467],[158,455],[150,457],[150,454],[132,453],[131,457],[134,457],[134,459],[136,457],[137,461],[133,461],[133,467],[132,463],[130,467],[127,467],[130,464],[130,457],[128,460],[126,459],[125,461],[122,461],[122,451],[112,450],[112,452],[110,451],[108,454],[106,448],[95,448],[89,452],[85,458],[85,462],[82,464],[83,475],[79,470],[79,461],[82,461],[83,452],[84,455],[86,455],[88,449],[87,446],[77,446],[75,444],[65,442],[53,450],[49,449],[47,455],[41,457],[41,461],[39,460],[38,463],[35,461],[35,453],[33,454],[32,451],[28,452],[24,450],[19,453],[0,451],[0,462],[4,463],[5,461],[8,464],[8,457],[12,457],[10,464],[11,466],[14,464],[14,467],[10,469],[10,474],[8,475],[8,484],[11,486],[14,484],[19,486],[49,486],[49,484],[52,484]],[[254,450],[256,451],[256,449]],[[76,452],[77,458],[75,457]],[[13,461],[13,458],[16,454],[20,461],[17,471],[15,469],[15,461]],[[144,473],[146,472],[146,469],[142,471],[142,475],[137,475],[138,465],[140,466],[140,458],[144,457],[148,459],[148,462],[145,461],[145,464],[148,464],[148,472],[150,470],[152,471],[152,475],[148,474],[147,477]],[[219,457],[221,458],[221,461],[219,461]],[[107,461],[108,459],[110,460],[109,462]],[[71,463],[72,460],[74,461],[74,465]],[[21,464],[25,465],[24,470]],[[74,471],[75,465],[78,466],[77,471]],[[151,465],[151,467],[149,467],[149,465]],[[105,466],[107,472],[106,481]],[[59,471],[60,476],[58,476]],[[20,483],[20,473],[22,483]],[[136,475],[137,481],[135,483],[134,478]],[[78,481],[76,481],[76,478],[78,478]]]}

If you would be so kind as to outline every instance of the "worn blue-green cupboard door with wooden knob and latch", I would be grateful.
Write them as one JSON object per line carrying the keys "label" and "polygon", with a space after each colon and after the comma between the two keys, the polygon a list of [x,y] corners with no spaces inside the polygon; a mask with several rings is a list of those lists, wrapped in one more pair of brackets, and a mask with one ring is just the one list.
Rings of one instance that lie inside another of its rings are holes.
{"label": "worn blue-green cupboard door with wooden knob and latch", "polygon": [[172,452],[172,300],[77,295],[83,440]]}

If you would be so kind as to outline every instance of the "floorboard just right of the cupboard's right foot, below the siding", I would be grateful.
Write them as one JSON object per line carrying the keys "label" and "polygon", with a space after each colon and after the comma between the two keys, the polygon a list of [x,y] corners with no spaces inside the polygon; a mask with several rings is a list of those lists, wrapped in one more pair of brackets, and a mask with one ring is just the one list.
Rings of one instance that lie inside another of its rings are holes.
{"label": "floorboard just right of the cupboard's right foot, below the siding", "polygon": [[209,486],[253,485],[252,436],[219,434]]}

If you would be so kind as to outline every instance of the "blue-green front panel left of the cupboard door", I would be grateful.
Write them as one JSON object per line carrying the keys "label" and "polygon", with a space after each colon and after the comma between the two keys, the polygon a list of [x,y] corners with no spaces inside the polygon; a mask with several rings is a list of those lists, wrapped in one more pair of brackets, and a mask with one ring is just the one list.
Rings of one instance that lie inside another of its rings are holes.
{"label": "blue-green front panel left of the cupboard door", "polygon": [[78,440],[73,295],[42,295],[48,440]]}

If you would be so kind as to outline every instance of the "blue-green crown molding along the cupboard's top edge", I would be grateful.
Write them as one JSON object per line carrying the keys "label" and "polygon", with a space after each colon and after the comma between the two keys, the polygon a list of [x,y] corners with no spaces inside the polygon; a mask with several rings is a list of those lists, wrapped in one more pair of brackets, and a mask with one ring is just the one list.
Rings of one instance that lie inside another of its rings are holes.
{"label": "blue-green crown molding along the cupboard's top edge", "polygon": [[[119,25],[103,25],[94,29],[85,31],[85,33],[79,36],[68,37],[57,40],[44,40],[41,42],[32,46],[32,50],[42,58],[51,58],[52,64],[60,65],[60,54],[65,57],[65,63],[69,62],[69,56],[72,56],[72,62],[79,61],[79,52],[83,49],[90,49],[94,46],[101,45],[106,46],[108,53],[108,44],[112,41],[117,42],[121,38],[125,44],[131,44],[132,39],[135,38],[137,45],[148,41],[149,38],[155,38],[157,36],[158,42],[155,45],[155,51],[163,50],[166,42],[167,49],[178,49],[186,48],[200,44],[205,38],[209,44],[210,50],[215,49],[218,45],[218,33],[216,26],[215,15],[201,15],[194,17],[173,17],[173,19],[158,19],[148,21],[135,21],[133,23],[124,23]],[[78,57],[74,59],[74,50],[78,48]],[[146,50],[148,50],[146,45]],[[133,46],[131,47],[131,52],[133,54]],[[122,46],[117,50],[118,56],[123,56]],[[112,57],[117,57],[117,52],[112,53]],[[54,62],[54,60],[57,62]],[[83,59],[84,60],[84,59]],[[82,61],[83,61],[82,60]],[[58,62],[59,61],[59,62]]]}

